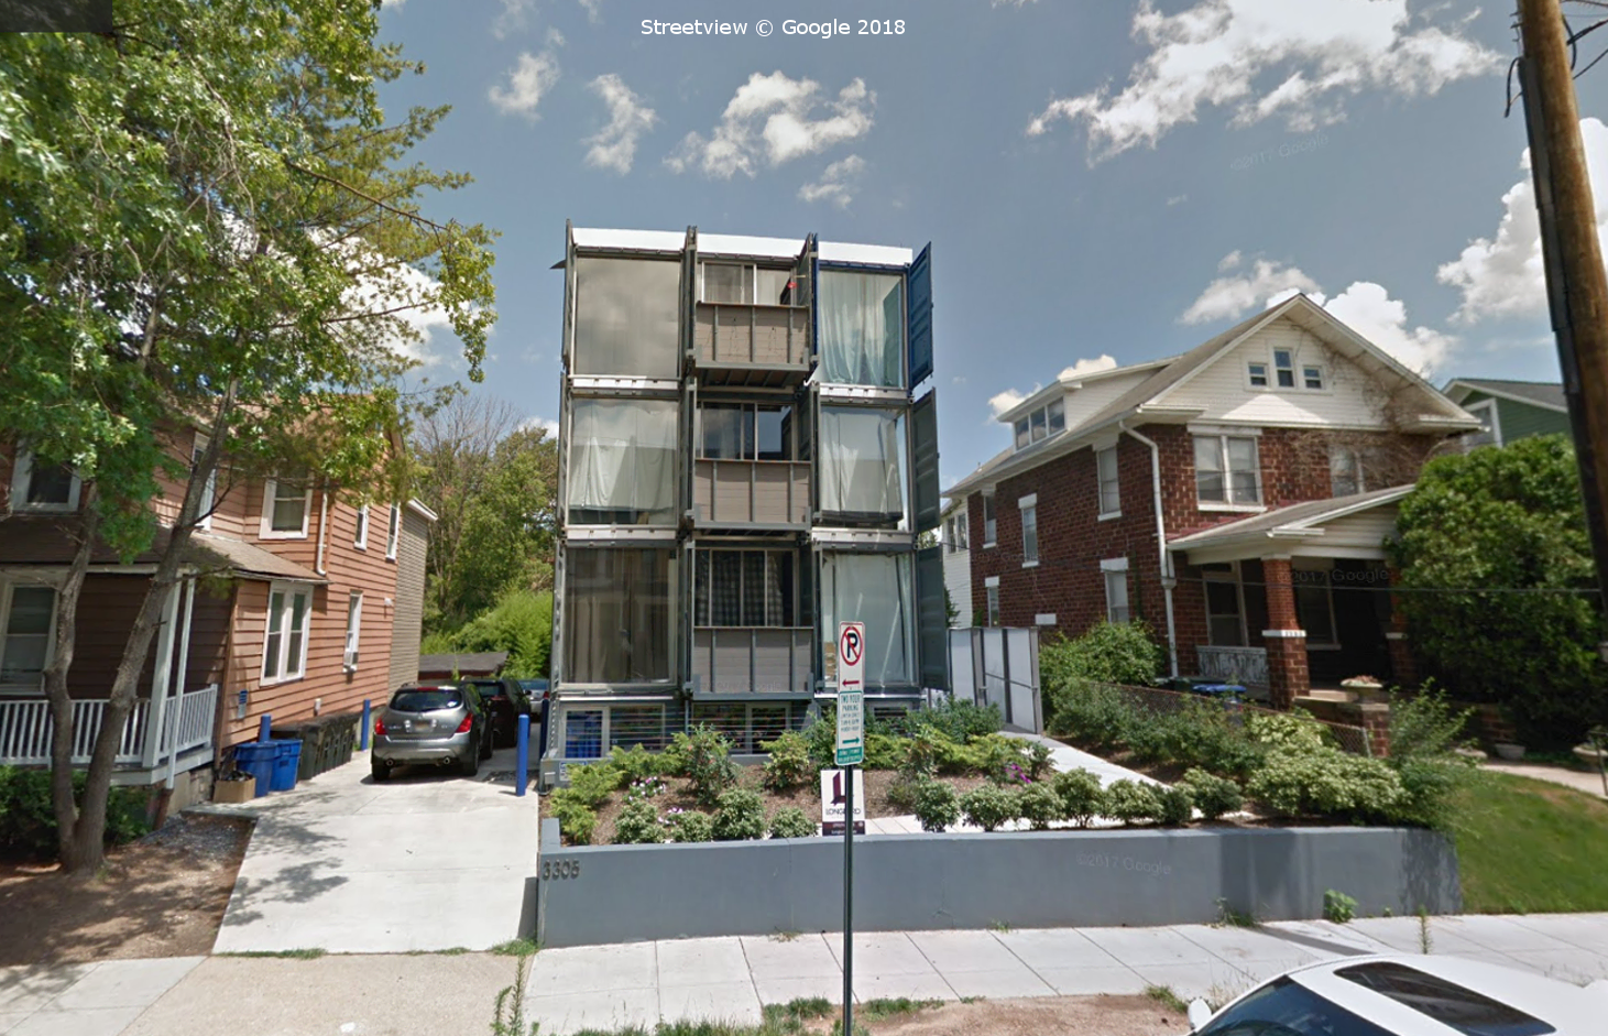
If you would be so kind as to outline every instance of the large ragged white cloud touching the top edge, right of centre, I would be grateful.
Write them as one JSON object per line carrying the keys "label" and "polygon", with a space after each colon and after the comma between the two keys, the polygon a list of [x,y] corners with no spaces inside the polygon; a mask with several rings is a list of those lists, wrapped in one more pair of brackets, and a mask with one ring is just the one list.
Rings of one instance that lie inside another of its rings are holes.
{"label": "large ragged white cloud touching the top edge, right of centre", "polygon": [[1346,98],[1364,90],[1425,97],[1505,66],[1463,34],[1468,18],[1428,24],[1442,11],[1415,16],[1407,0],[1198,0],[1164,14],[1140,0],[1132,32],[1150,53],[1127,87],[1055,98],[1028,134],[1082,122],[1100,161],[1155,146],[1203,108],[1230,113],[1235,127],[1282,117],[1307,132],[1343,121]]}

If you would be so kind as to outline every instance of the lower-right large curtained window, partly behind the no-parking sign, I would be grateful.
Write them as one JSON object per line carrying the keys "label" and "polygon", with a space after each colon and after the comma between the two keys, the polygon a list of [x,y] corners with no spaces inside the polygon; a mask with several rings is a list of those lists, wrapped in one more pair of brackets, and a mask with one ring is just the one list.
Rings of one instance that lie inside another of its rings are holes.
{"label": "lower-right large curtained window, partly behind the no-parking sign", "polygon": [[836,652],[838,623],[865,623],[865,684],[915,684],[915,587],[909,553],[823,553],[822,640]]}

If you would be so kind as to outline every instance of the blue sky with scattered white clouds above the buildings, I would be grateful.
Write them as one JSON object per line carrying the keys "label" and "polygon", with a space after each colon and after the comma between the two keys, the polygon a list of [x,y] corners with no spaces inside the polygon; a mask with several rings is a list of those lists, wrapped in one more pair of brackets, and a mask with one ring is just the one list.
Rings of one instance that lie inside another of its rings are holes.
{"label": "blue sky with scattered white clouds above the buildings", "polygon": [[[873,14],[904,32],[781,32]],[[503,235],[476,393],[556,415],[566,219],[933,241],[947,486],[1063,368],[1182,352],[1291,290],[1438,384],[1557,378],[1510,21],[1465,0],[389,0],[381,39],[428,66],[391,108],[453,106],[418,158],[476,177],[431,212]],[[1581,80],[1608,175],[1605,97],[1608,64]],[[450,380],[426,330],[425,373]]]}

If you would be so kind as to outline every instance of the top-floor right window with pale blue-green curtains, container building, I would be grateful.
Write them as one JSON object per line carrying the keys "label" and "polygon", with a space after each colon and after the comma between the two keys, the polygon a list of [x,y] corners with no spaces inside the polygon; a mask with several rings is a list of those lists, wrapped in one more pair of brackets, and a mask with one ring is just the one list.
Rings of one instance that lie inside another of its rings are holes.
{"label": "top-floor right window with pale blue-green curtains, container building", "polygon": [[836,384],[904,388],[904,277],[820,275],[820,376]]}

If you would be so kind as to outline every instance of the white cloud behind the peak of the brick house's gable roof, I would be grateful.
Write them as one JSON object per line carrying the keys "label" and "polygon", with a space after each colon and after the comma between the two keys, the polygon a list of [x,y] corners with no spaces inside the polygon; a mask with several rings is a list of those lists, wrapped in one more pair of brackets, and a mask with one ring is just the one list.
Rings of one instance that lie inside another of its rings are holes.
{"label": "white cloud behind the peak of the brick house's gable roof", "polygon": [[1299,291],[1420,375],[1442,367],[1457,346],[1455,336],[1428,327],[1409,327],[1405,302],[1393,299],[1384,286],[1373,282],[1352,282],[1343,293],[1328,298],[1299,267],[1257,259],[1240,275],[1230,273],[1243,265],[1240,253],[1229,253],[1217,264],[1217,270],[1229,275],[1208,285],[1179,320],[1237,320],[1251,310],[1277,306]]}

